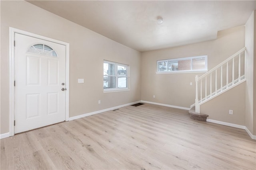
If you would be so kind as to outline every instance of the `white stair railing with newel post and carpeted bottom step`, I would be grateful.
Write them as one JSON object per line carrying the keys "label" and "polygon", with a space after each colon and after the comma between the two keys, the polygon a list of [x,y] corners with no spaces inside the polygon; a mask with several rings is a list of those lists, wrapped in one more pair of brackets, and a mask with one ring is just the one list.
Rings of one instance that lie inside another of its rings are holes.
{"label": "white stair railing with newel post and carpeted bottom step", "polygon": [[190,117],[206,121],[208,115],[200,113],[200,105],[246,81],[245,49],[242,48],[204,75],[196,76],[196,100],[190,106]]}

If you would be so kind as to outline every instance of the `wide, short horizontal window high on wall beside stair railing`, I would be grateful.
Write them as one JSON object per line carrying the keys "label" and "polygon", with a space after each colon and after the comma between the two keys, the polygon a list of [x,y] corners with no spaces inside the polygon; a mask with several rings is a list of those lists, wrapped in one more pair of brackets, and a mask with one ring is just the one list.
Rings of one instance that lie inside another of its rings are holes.
{"label": "wide, short horizontal window high on wall beside stair railing", "polygon": [[158,73],[206,72],[207,55],[157,61]]}

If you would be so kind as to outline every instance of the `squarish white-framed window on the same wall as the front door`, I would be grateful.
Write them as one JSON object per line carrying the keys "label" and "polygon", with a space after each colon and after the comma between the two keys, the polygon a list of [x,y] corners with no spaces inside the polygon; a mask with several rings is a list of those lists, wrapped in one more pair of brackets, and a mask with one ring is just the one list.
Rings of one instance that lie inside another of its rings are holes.
{"label": "squarish white-framed window on the same wall as the front door", "polygon": [[103,63],[103,88],[109,90],[128,89],[129,66],[125,64],[104,61]]}

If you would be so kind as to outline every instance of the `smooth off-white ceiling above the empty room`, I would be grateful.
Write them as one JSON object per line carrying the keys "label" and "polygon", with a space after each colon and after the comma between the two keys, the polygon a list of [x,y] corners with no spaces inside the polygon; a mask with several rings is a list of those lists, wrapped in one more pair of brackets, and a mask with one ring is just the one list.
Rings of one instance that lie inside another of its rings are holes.
{"label": "smooth off-white ceiling above the empty room", "polygon": [[138,51],[216,39],[217,31],[244,25],[256,10],[255,0],[28,2]]}

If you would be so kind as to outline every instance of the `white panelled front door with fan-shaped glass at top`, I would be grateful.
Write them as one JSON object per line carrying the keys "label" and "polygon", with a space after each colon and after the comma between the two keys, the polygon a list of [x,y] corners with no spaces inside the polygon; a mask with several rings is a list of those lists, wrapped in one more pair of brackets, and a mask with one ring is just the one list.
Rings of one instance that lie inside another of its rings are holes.
{"label": "white panelled front door with fan-shaped glass at top", "polygon": [[15,133],[65,121],[66,46],[15,33]]}

